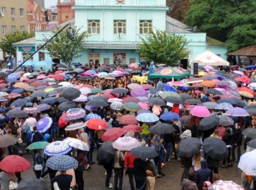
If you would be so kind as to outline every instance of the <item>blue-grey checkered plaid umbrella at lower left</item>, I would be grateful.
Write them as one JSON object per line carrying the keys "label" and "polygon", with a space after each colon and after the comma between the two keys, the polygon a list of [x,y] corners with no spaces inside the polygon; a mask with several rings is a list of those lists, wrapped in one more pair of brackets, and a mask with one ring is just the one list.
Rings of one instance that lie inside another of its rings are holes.
{"label": "blue-grey checkered plaid umbrella at lower left", "polygon": [[67,171],[72,168],[78,167],[78,161],[67,155],[57,155],[50,157],[45,164],[53,170]]}

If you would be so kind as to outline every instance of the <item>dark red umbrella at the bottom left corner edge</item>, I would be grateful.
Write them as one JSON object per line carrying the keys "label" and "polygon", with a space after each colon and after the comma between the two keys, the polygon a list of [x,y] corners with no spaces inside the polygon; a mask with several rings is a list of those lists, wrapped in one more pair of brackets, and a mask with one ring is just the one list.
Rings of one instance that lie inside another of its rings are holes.
{"label": "dark red umbrella at the bottom left corner edge", "polygon": [[29,161],[18,155],[6,156],[0,162],[0,169],[7,173],[16,173],[20,171],[27,171],[31,167]]}

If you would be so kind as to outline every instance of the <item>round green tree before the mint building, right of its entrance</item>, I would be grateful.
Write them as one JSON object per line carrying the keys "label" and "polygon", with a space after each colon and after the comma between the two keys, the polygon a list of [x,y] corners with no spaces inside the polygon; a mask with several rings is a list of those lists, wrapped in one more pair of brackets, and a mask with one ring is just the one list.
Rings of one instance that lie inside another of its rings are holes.
{"label": "round green tree before the mint building, right of its entrance", "polygon": [[146,57],[146,61],[172,65],[186,56],[184,47],[188,44],[183,36],[167,34],[165,31],[152,32],[146,39],[141,38],[138,53]]}

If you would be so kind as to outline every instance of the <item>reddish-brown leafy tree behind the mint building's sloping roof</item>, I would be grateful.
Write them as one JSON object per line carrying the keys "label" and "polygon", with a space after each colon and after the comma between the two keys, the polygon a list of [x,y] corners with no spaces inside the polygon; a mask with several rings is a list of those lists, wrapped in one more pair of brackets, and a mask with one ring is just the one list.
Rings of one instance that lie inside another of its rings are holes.
{"label": "reddish-brown leafy tree behind the mint building's sloping roof", "polygon": [[167,15],[181,22],[185,21],[185,16],[190,8],[190,0],[166,0],[169,7]]}

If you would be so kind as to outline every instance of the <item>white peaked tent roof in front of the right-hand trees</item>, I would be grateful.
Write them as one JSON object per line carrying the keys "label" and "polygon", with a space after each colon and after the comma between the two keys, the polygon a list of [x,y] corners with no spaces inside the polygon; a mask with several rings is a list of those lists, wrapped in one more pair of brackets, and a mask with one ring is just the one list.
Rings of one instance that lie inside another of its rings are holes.
{"label": "white peaked tent roof in front of the right-hand trees", "polygon": [[218,55],[212,53],[211,51],[205,51],[195,57],[193,57],[190,63],[198,63],[198,65],[210,65],[210,66],[229,66],[229,62],[225,61]]}

